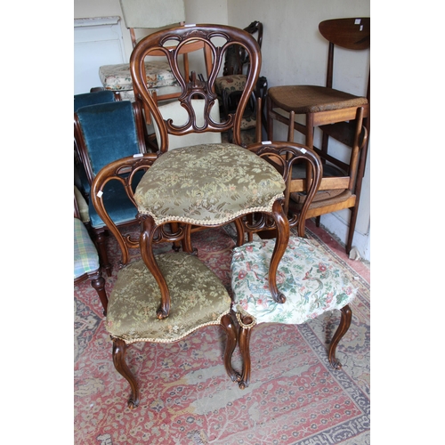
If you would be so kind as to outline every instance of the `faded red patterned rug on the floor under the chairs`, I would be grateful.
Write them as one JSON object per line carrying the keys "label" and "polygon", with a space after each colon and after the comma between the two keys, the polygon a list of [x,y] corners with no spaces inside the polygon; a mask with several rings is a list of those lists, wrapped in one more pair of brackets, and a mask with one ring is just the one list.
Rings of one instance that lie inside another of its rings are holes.
{"label": "faded red patterned rug on the floor under the chairs", "polygon": [[[130,410],[126,407],[129,385],[113,367],[101,303],[85,281],[74,289],[75,443],[370,443],[368,269],[339,254],[342,249],[332,247],[334,240],[327,244],[324,232],[316,232],[307,231],[329,255],[344,263],[360,289],[352,304],[352,326],[337,348],[341,370],[330,368],[327,354],[339,320],[336,312],[297,327],[255,327],[251,383],[245,390],[225,373],[223,329],[207,327],[176,344],[134,344],[128,349],[127,362],[141,385],[141,404]],[[198,257],[228,289],[233,236],[233,228],[193,235]],[[159,251],[170,248],[158,247]],[[117,264],[118,247],[112,237],[109,252]],[[108,292],[116,274],[117,266],[107,279]],[[239,368],[238,355],[234,363]]]}

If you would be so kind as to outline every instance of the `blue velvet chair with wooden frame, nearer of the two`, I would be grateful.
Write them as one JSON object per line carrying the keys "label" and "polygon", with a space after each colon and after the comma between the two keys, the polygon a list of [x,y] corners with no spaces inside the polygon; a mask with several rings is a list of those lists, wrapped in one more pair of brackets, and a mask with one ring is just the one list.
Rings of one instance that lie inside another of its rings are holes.
{"label": "blue velvet chair with wooden frame, nearer of the two", "polygon": [[[119,158],[145,153],[145,136],[146,127],[139,102],[110,101],[77,109],[74,114],[74,137],[85,166],[88,188],[103,166]],[[141,176],[134,178],[135,185]],[[136,222],[137,212],[122,184],[109,183],[104,190],[104,202],[118,227]],[[107,226],[96,213],[91,199],[88,206],[90,228],[101,265],[110,276],[112,265],[109,263],[105,238]],[[137,247],[137,241],[134,241],[134,247]]]}

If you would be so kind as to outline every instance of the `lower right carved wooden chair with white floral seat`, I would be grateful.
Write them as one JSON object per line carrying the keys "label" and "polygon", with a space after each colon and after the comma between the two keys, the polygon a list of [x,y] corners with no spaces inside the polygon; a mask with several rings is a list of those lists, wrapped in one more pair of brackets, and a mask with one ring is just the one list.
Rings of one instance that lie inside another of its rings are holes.
{"label": "lower right carved wooden chair with white floral seat", "polygon": [[[231,262],[231,287],[237,318],[239,320],[239,350],[243,359],[243,370],[239,377],[239,387],[244,389],[250,383],[251,358],[250,337],[256,325],[260,323],[301,324],[319,317],[321,314],[340,310],[341,320],[328,348],[328,360],[333,368],[341,368],[336,359],[336,347],[351,325],[352,311],[349,304],[357,294],[351,279],[340,263],[334,263],[310,239],[304,238],[306,213],[312,199],[320,187],[322,166],[318,158],[308,147],[288,142],[271,142],[270,150],[277,148],[288,158],[288,153],[307,150],[306,157],[315,157],[306,162],[312,183],[306,188],[306,200],[301,212],[293,214],[290,226],[296,227],[298,236],[291,235],[284,255],[279,263],[277,280],[279,291],[286,295],[286,300],[277,302],[264,282],[267,281],[268,267],[275,247],[272,239],[252,241],[235,247]],[[262,144],[255,144],[249,150],[263,150]],[[297,158],[295,158],[297,159]],[[279,170],[285,170],[287,189],[292,186],[292,172],[289,167],[280,166],[278,158],[273,164]],[[293,163],[291,167],[296,166]],[[287,171],[286,171],[287,170]],[[284,206],[286,206],[284,204]],[[271,229],[271,228],[270,228]],[[261,342],[261,338],[257,339]]]}

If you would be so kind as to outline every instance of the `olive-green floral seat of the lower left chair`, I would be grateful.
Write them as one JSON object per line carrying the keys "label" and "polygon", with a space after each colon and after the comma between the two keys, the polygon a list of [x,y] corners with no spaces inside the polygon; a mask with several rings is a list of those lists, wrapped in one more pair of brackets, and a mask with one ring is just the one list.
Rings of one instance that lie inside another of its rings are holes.
{"label": "olive-green floral seat of the lower left chair", "polygon": [[156,280],[142,261],[118,272],[109,295],[106,328],[126,344],[169,343],[198,328],[219,325],[231,309],[231,297],[220,279],[195,255],[183,252],[157,255],[171,292],[169,316],[158,320],[161,294]]}

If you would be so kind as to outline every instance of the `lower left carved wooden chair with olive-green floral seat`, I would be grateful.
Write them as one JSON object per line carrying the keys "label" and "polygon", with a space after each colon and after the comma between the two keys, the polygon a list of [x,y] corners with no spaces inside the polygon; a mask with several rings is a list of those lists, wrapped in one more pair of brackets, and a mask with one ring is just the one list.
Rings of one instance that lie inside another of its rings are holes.
{"label": "lower left carved wooden chair with olive-green floral seat", "polygon": [[[141,234],[142,260],[130,262],[129,247],[134,247],[133,242],[122,236],[104,205],[107,183],[117,182],[115,187],[120,185],[126,191],[128,201],[136,210],[134,177],[153,166],[157,159],[156,154],[149,153],[142,158],[129,157],[112,162],[95,176],[92,189],[94,206],[115,234],[122,252],[123,267],[118,271],[117,281],[109,295],[105,327],[113,341],[114,366],[131,387],[129,409],[140,403],[140,386],[125,362],[127,348],[134,343],[174,343],[199,328],[221,326],[226,333],[224,367],[232,381],[239,378],[231,367],[238,333],[231,318],[231,297],[223,283],[196,255],[172,251],[155,256],[147,252],[146,232]],[[160,228],[153,243],[163,241],[162,233]],[[147,267],[150,261],[156,262],[158,274],[150,272]],[[168,286],[168,301],[166,292],[159,287],[160,276]],[[173,302],[171,308],[170,297]],[[163,314],[168,308],[167,318],[158,316],[159,305]]]}

